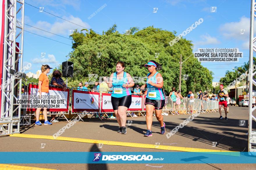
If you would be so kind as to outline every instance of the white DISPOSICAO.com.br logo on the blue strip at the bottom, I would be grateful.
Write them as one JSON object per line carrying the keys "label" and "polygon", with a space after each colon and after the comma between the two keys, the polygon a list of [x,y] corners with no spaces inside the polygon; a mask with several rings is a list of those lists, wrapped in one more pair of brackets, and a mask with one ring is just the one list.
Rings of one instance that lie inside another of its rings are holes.
{"label": "white DISPOSICAO.com.br logo on the blue strip at the bottom", "polygon": [[[93,162],[99,161],[101,157],[100,153],[94,153]],[[164,158],[153,158],[152,155],[102,155],[102,161],[151,161],[151,160],[163,160]]]}

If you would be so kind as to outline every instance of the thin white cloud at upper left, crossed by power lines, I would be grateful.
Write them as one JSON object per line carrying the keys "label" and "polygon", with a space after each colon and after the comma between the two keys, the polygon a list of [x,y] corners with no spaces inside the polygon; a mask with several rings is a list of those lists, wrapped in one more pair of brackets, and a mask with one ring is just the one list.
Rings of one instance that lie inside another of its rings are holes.
{"label": "thin white cloud at upper left, crossed by power lines", "polygon": [[[74,16],[70,15],[69,17],[62,17],[62,18],[66,19],[70,22],[77,23],[78,25],[81,25],[83,27],[90,28],[88,23],[83,22],[78,17],[74,17]],[[32,25],[36,28],[40,28],[45,31],[52,32],[54,34],[61,34],[63,36],[69,37],[69,30],[74,30],[76,28],[78,30],[82,29],[82,27],[80,27],[78,25],[74,25],[73,23],[70,23],[70,22],[67,22],[64,20],[56,21],[54,23],[49,23],[47,21],[38,21],[35,24],[29,23],[29,25]],[[42,30],[38,30],[36,28],[27,26],[26,30],[36,33],[36,34],[40,34],[42,36],[54,36],[54,34],[50,34],[50,33],[44,32]]]}

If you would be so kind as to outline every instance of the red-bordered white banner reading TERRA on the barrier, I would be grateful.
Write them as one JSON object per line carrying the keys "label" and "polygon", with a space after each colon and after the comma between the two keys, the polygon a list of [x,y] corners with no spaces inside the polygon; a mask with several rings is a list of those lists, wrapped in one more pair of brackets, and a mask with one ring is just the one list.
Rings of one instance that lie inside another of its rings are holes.
{"label": "red-bordered white banner reading TERRA on the barrier", "polygon": [[99,111],[99,93],[72,90],[72,112]]}

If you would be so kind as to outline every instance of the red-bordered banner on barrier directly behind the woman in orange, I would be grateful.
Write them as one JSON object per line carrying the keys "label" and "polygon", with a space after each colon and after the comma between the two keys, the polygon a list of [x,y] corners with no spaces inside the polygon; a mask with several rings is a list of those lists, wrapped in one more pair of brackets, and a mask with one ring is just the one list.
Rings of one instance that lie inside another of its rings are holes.
{"label": "red-bordered banner on barrier directly behind the woman in orange", "polygon": [[[36,95],[38,92],[38,85],[29,84],[28,87],[28,94],[29,95]],[[65,104],[60,105],[60,108],[57,109],[47,109],[47,111],[68,111],[69,109],[69,89],[65,91],[62,88],[58,87],[50,87],[49,86],[49,95],[59,95],[61,98],[66,98],[67,102]],[[36,108],[28,108],[27,111],[35,111]]]}

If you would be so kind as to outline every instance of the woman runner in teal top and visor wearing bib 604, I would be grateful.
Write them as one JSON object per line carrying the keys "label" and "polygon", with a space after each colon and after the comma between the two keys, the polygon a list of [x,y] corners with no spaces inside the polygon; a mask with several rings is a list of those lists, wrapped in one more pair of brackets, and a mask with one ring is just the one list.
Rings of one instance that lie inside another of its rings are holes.
{"label": "woman runner in teal top and visor wearing bib 604", "polygon": [[144,136],[152,136],[151,126],[153,120],[153,111],[155,109],[156,118],[160,123],[160,133],[165,133],[165,123],[163,122],[162,109],[165,104],[164,94],[162,92],[163,77],[157,72],[162,69],[161,65],[154,60],[145,64],[149,74],[147,74],[147,83],[142,88],[147,87],[146,105],[146,123],[147,131]]}

